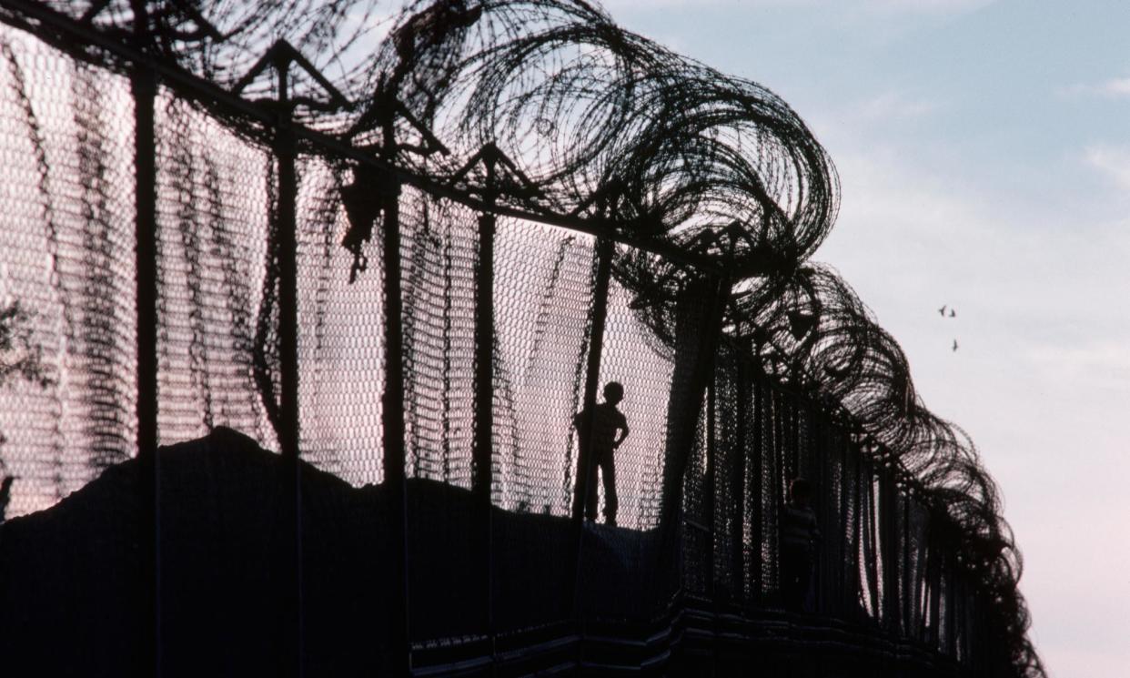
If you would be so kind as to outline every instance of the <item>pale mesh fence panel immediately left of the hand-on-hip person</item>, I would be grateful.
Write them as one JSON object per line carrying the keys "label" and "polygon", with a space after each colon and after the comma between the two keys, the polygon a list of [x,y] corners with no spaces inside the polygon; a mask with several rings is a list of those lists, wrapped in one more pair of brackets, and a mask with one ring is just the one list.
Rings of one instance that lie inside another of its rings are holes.
{"label": "pale mesh fence panel immediately left of the hand-on-hip person", "polygon": [[495,501],[521,513],[567,515],[592,240],[505,219],[495,247]]}

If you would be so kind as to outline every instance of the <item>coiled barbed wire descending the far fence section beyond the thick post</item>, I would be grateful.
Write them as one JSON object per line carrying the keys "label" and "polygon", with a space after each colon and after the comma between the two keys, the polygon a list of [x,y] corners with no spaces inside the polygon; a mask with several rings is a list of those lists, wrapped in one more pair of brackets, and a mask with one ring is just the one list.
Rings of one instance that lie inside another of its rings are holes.
{"label": "coiled barbed wire descending the far fence section beyond the thick post", "polygon": [[736,302],[736,322],[754,328],[751,355],[766,374],[847,410],[869,440],[897,461],[953,527],[950,548],[990,605],[993,647],[1016,675],[1044,676],[1027,638],[1018,589],[1023,558],[1001,515],[999,490],[970,436],[930,412],[914,391],[906,357],[851,287],[825,264],[771,276]]}

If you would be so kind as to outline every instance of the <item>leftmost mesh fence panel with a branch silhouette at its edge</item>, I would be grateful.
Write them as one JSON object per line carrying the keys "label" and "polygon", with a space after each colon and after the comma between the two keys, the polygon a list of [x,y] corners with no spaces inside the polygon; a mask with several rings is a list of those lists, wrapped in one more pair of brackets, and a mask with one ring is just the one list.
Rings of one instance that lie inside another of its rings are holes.
{"label": "leftmost mesh fence panel with a branch silhouette at its edge", "polygon": [[43,377],[0,391],[9,516],[137,447],[131,110],[124,79],[0,31],[0,305]]}

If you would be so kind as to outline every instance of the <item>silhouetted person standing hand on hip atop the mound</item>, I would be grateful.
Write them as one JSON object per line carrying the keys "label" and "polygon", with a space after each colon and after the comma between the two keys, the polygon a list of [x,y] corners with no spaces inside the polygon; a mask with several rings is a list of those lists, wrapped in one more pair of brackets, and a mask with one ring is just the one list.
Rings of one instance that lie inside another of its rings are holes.
{"label": "silhouetted person standing hand on hip atop the mound", "polygon": [[624,400],[624,385],[619,382],[605,384],[605,401],[597,403],[592,412],[592,431],[585,440],[582,427],[588,409],[573,417],[573,426],[577,431],[577,484],[573,497],[574,515],[581,511],[583,503],[584,516],[597,520],[597,470],[600,470],[605,483],[605,522],[616,524],[616,510],[619,502],[616,498],[616,462],[612,452],[628,437],[628,423],[616,406]]}

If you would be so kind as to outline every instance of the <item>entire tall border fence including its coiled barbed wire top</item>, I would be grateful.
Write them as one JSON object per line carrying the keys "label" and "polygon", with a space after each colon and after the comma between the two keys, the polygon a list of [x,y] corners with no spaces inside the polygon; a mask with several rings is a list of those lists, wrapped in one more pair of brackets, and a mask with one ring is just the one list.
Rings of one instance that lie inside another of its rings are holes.
{"label": "entire tall border fence including its coiled barbed wire top", "polygon": [[[73,558],[134,577],[92,666],[1043,675],[975,449],[806,262],[836,179],[783,102],[585,2],[371,11],[0,1],[0,646],[63,661],[8,606],[81,499]],[[575,508],[609,381],[616,525]],[[220,580],[269,624],[206,619]]]}

